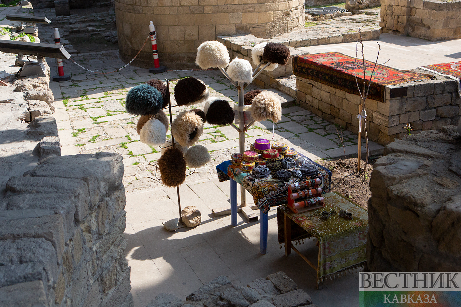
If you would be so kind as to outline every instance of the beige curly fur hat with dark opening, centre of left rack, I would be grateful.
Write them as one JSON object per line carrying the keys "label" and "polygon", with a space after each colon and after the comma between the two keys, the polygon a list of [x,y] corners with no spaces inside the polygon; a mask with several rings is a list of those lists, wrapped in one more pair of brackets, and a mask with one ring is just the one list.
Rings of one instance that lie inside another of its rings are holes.
{"label": "beige curly fur hat with dark opening, centre of left rack", "polygon": [[181,146],[193,145],[203,134],[203,120],[197,113],[184,110],[171,124],[171,135]]}

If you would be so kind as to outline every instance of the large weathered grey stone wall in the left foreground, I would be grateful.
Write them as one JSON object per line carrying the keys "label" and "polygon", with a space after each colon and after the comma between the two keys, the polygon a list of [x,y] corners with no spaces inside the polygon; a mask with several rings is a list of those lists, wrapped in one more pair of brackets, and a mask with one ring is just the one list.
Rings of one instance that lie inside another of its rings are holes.
{"label": "large weathered grey stone wall in the left foreground", "polygon": [[117,154],[51,155],[8,180],[1,306],[133,306],[123,173]]}

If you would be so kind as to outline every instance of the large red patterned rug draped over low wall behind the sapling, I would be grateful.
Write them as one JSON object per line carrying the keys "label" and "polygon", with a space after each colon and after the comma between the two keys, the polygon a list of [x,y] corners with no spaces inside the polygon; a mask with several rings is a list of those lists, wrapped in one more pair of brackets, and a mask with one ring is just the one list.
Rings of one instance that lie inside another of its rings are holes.
{"label": "large red patterned rug draped over low wall behind the sapling", "polygon": [[[396,85],[411,81],[431,80],[432,75],[418,74],[409,70],[377,64],[373,71],[374,63],[365,60],[366,84],[372,82],[368,98],[384,102],[384,86]],[[346,93],[360,95],[355,81],[361,90],[363,88],[362,60],[349,57],[340,52],[326,52],[298,56],[293,58],[293,73],[302,78],[314,80],[328,86],[338,88]]]}

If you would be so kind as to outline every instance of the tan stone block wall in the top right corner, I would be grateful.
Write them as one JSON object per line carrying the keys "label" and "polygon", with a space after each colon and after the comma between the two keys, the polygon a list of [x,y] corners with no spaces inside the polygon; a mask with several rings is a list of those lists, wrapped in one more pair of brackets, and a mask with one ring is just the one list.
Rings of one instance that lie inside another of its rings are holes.
{"label": "tan stone block wall in the top right corner", "polygon": [[396,31],[431,41],[461,38],[461,0],[381,0],[384,33]]}

